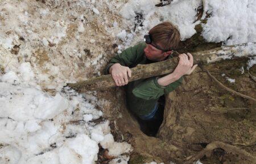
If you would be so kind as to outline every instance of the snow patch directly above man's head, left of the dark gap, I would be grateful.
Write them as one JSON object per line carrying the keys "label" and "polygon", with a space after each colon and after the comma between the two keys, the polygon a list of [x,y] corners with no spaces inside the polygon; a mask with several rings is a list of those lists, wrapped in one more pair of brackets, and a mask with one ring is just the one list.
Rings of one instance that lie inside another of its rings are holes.
{"label": "snow patch directly above man's head, left of the dark gap", "polygon": [[194,28],[199,21],[194,23],[195,8],[200,6],[201,1],[179,1],[164,7],[155,7],[156,3],[159,1],[130,0],[121,8],[120,14],[129,21],[135,21],[136,14],[142,14],[143,29],[147,31],[162,21],[171,21],[179,27],[182,40],[196,33]]}

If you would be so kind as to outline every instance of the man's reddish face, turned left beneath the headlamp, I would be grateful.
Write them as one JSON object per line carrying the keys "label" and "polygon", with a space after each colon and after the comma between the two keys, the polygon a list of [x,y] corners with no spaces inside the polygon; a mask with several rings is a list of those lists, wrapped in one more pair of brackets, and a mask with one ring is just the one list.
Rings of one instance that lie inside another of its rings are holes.
{"label": "man's reddish face, turned left beneath the headlamp", "polygon": [[151,61],[163,61],[168,56],[166,56],[162,50],[156,49],[150,44],[147,44],[146,48],[144,48],[144,53]]}

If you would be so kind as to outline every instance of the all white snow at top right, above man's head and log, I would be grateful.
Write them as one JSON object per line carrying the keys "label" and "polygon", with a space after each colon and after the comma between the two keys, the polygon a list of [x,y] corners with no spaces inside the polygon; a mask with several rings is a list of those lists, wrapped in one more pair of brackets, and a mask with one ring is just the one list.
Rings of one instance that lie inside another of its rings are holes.
{"label": "all white snow at top right, above man's head and log", "polygon": [[[131,31],[136,22],[135,16],[142,14],[141,27],[137,27],[142,40],[150,28],[162,21],[171,21],[179,27],[181,39],[191,37],[196,33],[195,25],[200,21],[196,20],[196,8],[201,6],[202,1],[173,1],[171,5],[155,7],[159,1],[136,1],[130,0],[120,10],[126,24],[129,24]],[[256,42],[256,1],[254,0],[232,0],[232,1],[204,1],[204,16],[207,12],[210,18],[203,24],[202,35],[209,42],[224,41],[226,45],[236,45],[246,42]],[[131,32],[132,33],[132,32]],[[128,46],[125,44],[126,47]]]}

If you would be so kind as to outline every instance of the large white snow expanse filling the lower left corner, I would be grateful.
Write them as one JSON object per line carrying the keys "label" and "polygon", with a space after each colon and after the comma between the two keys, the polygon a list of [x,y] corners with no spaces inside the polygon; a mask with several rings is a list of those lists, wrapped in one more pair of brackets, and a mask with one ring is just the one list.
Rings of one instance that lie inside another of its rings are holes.
{"label": "large white snow expanse filling the lower left corner", "polygon": [[[0,162],[97,161],[98,143],[111,135],[108,121],[96,126],[90,123],[100,118],[102,112],[74,90],[65,89],[55,96],[43,92],[35,84],[34,76],[28,62],[21,63],[16,72],[0,76],[0,133],[5,134],[0,135],[3,144]],[[97,101],[96,97],[86,97],[94,103]],[[72,120],[84,120],[84,123],[76,125],[70,123]],[[116,142],[108,144],[108,149],[115,157],[132,150],[130,144]]]}

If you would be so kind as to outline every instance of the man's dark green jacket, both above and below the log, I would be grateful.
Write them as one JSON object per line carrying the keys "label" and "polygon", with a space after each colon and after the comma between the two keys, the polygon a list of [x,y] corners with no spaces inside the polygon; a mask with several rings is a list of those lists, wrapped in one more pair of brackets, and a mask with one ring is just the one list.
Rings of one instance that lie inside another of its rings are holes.
{"label": "man's dark green jacket, both above and below the log", "polygon": [[[138,64],[150,64],[156,61],[150,61],[144,55],[144,42],[135,45],[131,48],[123,50],[121,54],[116,55],[110,60],[110,63],[105,68],[105,74],[109,74],[109,68],[114,63],[120,63],[122,66],[133,68]],[[169,55],[172,58],[172,55]],[[133,73],[132,73],[133,75]],[[138,116],[150,114],[153,110],[155,103],[163,94],[168,94],[176,89],[183,79],[167,85],[166,87],[160,86],[157,82],[157,77],[150,77],[148,79],[141,79],[131,81],[126,87],[126,103],[129,110],[133,111]]]}

